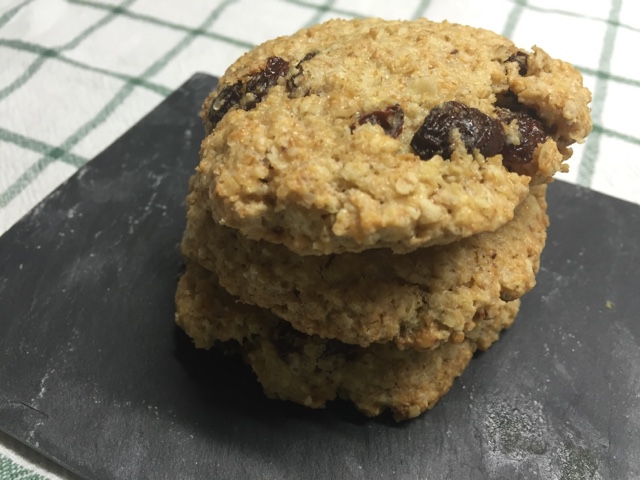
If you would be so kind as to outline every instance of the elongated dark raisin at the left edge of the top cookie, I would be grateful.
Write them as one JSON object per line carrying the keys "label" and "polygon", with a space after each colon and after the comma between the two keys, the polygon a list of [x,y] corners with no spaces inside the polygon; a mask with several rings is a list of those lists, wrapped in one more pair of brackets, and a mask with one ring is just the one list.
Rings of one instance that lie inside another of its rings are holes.
{"label": "elongated dark raisin at the left edge of the top cookie", "polygon": [[215,128],[222,117],[236,105],[243,110],[254,108],[269,89],[278,83],[278,78],[286,76],[288,71],[289,62],[280,57],[269,57],[264,70],[249,77],[248,82],[239,81],[223,88],[211,102],[207,112],[211,128]]}

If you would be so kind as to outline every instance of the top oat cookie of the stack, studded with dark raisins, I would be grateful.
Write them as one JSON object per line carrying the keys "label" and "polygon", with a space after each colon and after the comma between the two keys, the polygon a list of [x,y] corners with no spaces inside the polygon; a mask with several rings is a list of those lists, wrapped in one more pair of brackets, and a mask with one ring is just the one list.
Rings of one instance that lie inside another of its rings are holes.
{"label": "top oat cookie of the stack, studded with dark raisins", "polygon": [[493,231],[591,129],[577,70],[492,32],[332,20],[245,54],[204,102],[216,220],[301,255]]}

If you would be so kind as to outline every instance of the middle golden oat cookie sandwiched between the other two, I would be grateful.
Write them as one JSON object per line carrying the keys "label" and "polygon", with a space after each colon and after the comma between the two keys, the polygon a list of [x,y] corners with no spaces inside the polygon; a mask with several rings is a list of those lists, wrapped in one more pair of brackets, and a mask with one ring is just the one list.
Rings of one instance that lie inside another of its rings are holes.
{"label": "middle golden oat cookie sandwiched between the other two", "polygon": [[372,249],[301,256],[217,224],[203,190],[194,176],[182,241],[187,261],[299,331],[361,346],[461,342],[481,319],[533,288],[548,224],[546,185],[539,185],[495,232],[404,255]]}

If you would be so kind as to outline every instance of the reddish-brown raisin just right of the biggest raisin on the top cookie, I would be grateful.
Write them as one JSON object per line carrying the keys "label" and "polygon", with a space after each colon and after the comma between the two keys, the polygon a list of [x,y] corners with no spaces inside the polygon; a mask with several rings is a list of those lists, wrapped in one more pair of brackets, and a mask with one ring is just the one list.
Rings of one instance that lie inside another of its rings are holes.
{"label": "reddish-brown raisin just right of the biggest raisin on the top cookie", "polygon": [[496,112],[505,125],[509,125],[514,120],[518,123],[520,143],[515,145],[505,140],[502,163],[507,169],[521,173],[518,167],[533,160],[533,153],[539,144],[546,141],[547,132],[542,122],[535,118],[532,112],[526,110],[514,112],[503,108],[496,109]]}

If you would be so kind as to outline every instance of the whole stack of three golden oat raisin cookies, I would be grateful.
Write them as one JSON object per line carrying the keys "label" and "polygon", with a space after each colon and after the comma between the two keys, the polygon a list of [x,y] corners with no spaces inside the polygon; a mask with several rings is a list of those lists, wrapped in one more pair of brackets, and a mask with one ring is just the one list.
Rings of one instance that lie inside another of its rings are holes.
{"label": "whole stack of three golden oat raisin cookies", "polygon": [[570,65],[450,23],[258,46],[203,105],[178,325],[271,398],[419,415],[533,288],[589,101]]}

